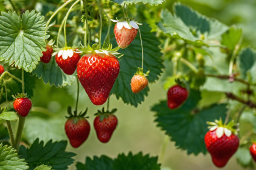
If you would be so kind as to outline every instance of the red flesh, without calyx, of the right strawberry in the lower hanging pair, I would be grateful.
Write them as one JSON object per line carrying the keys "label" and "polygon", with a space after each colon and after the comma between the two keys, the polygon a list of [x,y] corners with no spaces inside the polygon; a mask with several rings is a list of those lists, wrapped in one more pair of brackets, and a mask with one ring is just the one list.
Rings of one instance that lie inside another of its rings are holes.
{"label": "red flesh, without calyx, of the right strawberry in the lower hanging pair", "polygon": [[111,138],[113,131],[116,129],[117,118],[115,115],[110,114],[107,119],[103,119],[101,122],[100,117],[96,116],[93,125],[99,141],[107,143]]}

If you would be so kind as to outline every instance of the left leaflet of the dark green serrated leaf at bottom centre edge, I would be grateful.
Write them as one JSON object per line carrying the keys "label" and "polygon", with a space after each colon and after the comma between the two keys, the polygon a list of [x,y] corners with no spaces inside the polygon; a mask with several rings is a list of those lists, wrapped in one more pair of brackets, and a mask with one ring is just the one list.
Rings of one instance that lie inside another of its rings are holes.
{"label": "left leaflet of the dark green serrated leaf at bottom centre edge", "polygon": [[93,157],[93,160],[90,157],[86,157],[86,164],[78,162],[76,164],[77,170],[113,170],[113,160],[107,156],[97,156]]}

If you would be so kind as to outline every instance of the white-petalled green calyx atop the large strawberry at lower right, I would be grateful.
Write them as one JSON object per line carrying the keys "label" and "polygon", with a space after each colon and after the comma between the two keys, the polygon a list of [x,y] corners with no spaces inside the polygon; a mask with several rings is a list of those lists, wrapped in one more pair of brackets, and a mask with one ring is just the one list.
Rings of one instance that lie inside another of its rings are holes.
{"label": "white-petalled green calyx atop the large strawberry at lower right", "polygon": [[237,135],[238,129],[234,128],[234,120],[230,121],[227,125],[224,125],[222,119],[220,118],[220,120],[215,120],[215,122],[207,122],[207,124],[210,125],[208,127],[210,131],[216,130],[216,136],[218,138],[221,138],[223,134],[225,134],[227,137],[230,137],[232,133]]}

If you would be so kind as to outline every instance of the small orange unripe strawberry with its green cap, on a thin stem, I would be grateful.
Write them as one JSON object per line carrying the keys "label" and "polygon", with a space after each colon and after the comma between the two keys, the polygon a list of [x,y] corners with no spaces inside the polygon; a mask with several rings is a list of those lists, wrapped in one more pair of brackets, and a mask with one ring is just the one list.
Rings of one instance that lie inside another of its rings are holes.
{"label": "small orange unripe strawberry with its green cap, on a thin stem", "polygon": [[131,91],[135,94],[140,93],[144,88],[148,86],[148,76],[149,71],[146,74],[143,74],[143,69],[138,68],[138,71],[131,78]]}

